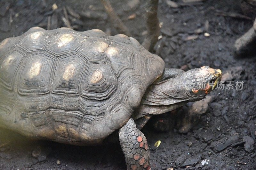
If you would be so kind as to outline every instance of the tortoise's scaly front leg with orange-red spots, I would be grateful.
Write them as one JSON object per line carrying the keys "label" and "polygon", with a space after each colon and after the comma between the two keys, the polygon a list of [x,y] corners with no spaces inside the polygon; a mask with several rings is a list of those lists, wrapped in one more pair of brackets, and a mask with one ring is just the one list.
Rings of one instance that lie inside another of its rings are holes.
{"label": "tortoise's scaly front leg with orange-red spots", "polygon": [[148,142],[132,118],[119,129],[119,140],[127,169],[149,169]]}

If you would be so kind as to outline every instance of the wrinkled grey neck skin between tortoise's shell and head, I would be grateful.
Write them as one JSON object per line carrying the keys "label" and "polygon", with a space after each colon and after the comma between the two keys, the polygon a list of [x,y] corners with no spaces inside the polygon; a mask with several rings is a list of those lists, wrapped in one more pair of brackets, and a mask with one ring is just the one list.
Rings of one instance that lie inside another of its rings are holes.
{"label": "wrinkled grey neck skin between tortoise's shell and head", "polygon": [[166,113],[190,102],[191,98],[183,87],[180,76],[164,81],[156,80],[148,87],[134,117]]}

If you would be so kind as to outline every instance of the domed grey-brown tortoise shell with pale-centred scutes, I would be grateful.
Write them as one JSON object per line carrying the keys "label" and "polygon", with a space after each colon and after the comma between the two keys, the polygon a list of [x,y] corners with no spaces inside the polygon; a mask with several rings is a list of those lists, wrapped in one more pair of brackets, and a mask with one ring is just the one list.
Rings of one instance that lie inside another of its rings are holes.
{"label": "domed grey-brown tortoise shell with pale-centred scutes", "polygon": [[96,145],[140,105],[164,61],[123,34],[33,27],[0,44],[1,126]]}

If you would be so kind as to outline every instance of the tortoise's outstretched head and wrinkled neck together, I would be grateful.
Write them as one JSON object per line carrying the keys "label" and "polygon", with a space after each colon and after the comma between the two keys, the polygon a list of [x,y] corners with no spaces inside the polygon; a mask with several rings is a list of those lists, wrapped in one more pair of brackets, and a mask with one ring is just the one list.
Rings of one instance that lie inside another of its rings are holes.
{"label": "tortoise's outstretched head and wrinkled neck together", "polygon": [[[194,68],[187,72],[171,69],[164,71],[164,74],[166,75],[163,77],[168,77],[168,79],[159,77],[159,81],[153,82],[148,87],[141,99],[140,107],[132,115],[134,120],[148,114],[166,113],[188,102],[201,100],[214,89],[213,86],[215,87],[216,82],[221,79],[221,70],[208,66]],[[193,87],[187,84],[192,84]]]}

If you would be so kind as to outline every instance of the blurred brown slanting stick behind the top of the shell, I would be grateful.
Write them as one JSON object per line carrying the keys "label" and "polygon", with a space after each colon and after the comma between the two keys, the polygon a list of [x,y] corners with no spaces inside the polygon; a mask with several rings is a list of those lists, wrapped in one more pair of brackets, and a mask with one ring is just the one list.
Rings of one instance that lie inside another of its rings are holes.
{"label": "blurred brown slanting stick behind the top of the shell", "polygon": [[130,36],[130,32],[127,29],[127,27],[124,25],[124,23],[121,21],[121,19],[117,16],[116,12],[112,8],[110,2],[108,0],[100,0],[101,3],[104,5],[106,12],[108,13],[108,16],[115,26],[117,30],[119,30],[120,33],[125,34],[127,36]]}

